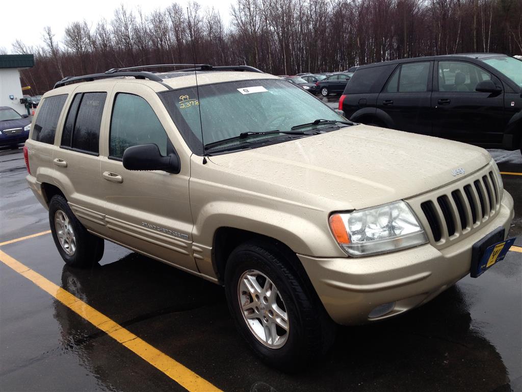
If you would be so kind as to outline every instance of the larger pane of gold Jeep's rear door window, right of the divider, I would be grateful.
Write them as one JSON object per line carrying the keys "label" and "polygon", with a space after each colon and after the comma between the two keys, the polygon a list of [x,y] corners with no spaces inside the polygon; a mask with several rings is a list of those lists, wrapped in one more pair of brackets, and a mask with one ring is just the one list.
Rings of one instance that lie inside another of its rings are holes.
{"label": "larger pane of gold Jeep's rear door window, right of the divider", "polygon": [[98,154],[100,125],[107,93],[85,93],[76,114],[71,147]]}

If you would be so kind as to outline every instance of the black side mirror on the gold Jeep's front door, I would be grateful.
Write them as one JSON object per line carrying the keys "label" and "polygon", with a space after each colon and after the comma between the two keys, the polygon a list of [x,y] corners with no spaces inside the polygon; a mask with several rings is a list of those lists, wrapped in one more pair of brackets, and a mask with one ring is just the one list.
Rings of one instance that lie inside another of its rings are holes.
{"label": "black side mirror on the gold Jeep's front door", "polygon": [[127,170],[164,170],[180,172],[180,158],[172,153],[162,156],[156,144],[141,144],[128,147],[123,153],[123,167]]}

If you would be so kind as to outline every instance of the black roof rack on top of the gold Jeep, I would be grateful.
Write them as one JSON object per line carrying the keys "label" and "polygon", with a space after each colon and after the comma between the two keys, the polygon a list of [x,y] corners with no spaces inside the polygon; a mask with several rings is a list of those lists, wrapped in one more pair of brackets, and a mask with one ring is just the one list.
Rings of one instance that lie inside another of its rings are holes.
{"label": "black roof rack on top of the gold Jeep", "polygon": [[[247,71],[264,73],[257,68],[248,65],[222,65],[212,66],[210,64],[154,64],[154,65],[138,65],[134,67],[126,68],[111,68],[109,71],[105,71],[103,74],[91,74],[84,76],[66,76],[60,82],[56,82],[53,88],[65,86],[69,83],[74,82],[92,82],[94,79],[104,79],[110,77],[121,77],[121,76],[133,76],[136,79],[149,79],[154,82],[163,84],[163,79],[156,73],[145,72],[145,71],[132,71],[141,68],[158,68],[158,67],[190,67],[183,68],[182,70],[174,70],[171,72],[195,72],[195,71]],[[165,87],[169,87],[163,84]],[[170,88],[170,87],[169,87]]]}

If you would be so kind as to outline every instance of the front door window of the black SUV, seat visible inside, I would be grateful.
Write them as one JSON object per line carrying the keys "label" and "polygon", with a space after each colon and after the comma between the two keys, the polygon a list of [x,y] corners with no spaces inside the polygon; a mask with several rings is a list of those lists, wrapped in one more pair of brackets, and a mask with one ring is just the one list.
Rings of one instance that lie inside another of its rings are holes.
{"label": "front door window of the black SUV, seat visible inside", "polygon": [[470,93],[483,80],[491,80],[491,74],[477,65],[464,61],[438,62],[438,90]]}

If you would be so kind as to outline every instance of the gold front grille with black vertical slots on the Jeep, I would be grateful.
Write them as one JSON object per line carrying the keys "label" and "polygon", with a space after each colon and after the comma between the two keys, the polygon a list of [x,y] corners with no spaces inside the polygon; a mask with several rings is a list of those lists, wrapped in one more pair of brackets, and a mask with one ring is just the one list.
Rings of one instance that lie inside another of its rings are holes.
{"label": "gold front grille with black vertical slots on the Jeep", "polygon": [[473,233],[500,209],[502,190],[492,165],[434,192],[408,200],[430,242],[444,247]]}

